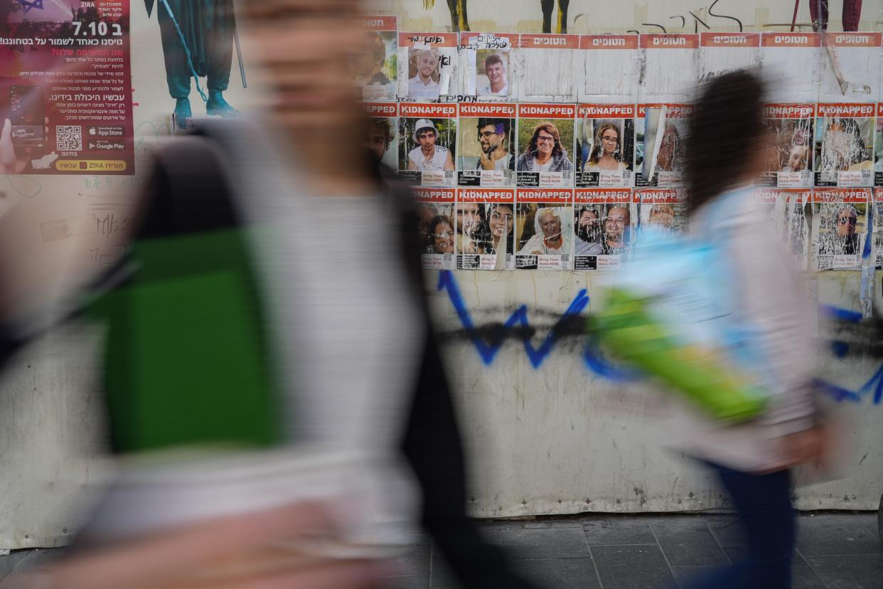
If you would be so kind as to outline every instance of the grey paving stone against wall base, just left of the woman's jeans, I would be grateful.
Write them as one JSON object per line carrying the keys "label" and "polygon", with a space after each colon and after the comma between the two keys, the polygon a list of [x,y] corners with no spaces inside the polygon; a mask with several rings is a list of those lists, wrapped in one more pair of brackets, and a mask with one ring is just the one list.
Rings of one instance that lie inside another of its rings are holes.
{"label": "grey paving stone against wall base, just left of the woman's jeans", "polygon": [[660,517],[650,527],[673,567],[729,564],[701,517]]}

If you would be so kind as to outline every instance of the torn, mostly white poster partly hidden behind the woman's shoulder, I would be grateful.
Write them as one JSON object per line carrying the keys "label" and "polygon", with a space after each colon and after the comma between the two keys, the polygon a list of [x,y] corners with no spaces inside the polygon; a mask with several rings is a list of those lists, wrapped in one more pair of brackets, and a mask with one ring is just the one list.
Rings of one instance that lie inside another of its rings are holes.
{"label": "torn, mostly white poster partly hidden behind the woman's shoulder", "polygon": [[812,201],[811,189],[755,188],[754,196],[773,221],[782,241],[787,244],[797,268],[807,269],[810,248],[804,206]]}

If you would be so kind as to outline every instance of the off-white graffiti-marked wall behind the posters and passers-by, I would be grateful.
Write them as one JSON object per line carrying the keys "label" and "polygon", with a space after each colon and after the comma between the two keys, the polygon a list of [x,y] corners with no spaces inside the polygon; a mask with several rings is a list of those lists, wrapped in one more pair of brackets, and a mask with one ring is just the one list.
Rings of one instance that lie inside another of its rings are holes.
{"label": "off-white graffiti-marked wall behind the posters and passers-by", "polygon": [[[692,32],[692,11],[715,29],[736,26],[735,21],[709,17],[712,4],[574,0],[569,24],[573,32],[659,30],[642,23]],[[746,29],[756,30],[771,22],[789,22],[792,8],[785,4],[789,3],[721,0],[712,11],[735,16]],[[802,4],[798,21],[807,22]],[[831,4],[831,28],[839,30],[841,4]],[[880,6],[864,3],[862,28],[878,26]],[[445,0],[436,0],[428,11],[423,0],[380,0],[378,7],[398,14],[403,28],[449,26]],[[540,30],[539,1],[472,0],[469,7],[473,30]],[[11,245],[4,251],[34,267],[48,268],[34,277],[46,283],[47,292],[83,280],[118,255],[126,237],[125,219],[146,171],[144,162],[169,135],[173,101],[165,90],[159,29],[155,17],[147,19],[143,3],[132,2],[132,13],[136,177],[0,177],[0,213],[14,219],[8,211],[22,203],[29,212],[26,223],[12,223],[15,230],[7,229],[2,236]],[[239,87],[234,70],[229,101],[245,108],[249,92],[255,91]],[[202,107],[195,91],[192,103],[199,114]],[[67,237],[46,230],[47,223],[63,219],[77,228]],[[525,306],[525,318],[538,327],[531,354],[520,342],[509,341],[494,355],[493,349],[477,347],[457,333],[444,346],[472,454],[475,515],[700,510],[721,505],[721,495],[704,472],[660,449],[660,434],[648,427],[652,403],[639,387],[598,374],[586,362],[577,338],[542,348],[547,330],[579,291],[586,289],[592,297],[597,276],[539,271],[447,276],[456,280],[460,298],[452,296],[453,283],[439,290],[439,275],[427,275],[443,331],[462,328],[457,308],[480,325],[505,321]],[[876,302],[883,304],[879,276],[875,283]],[[857,273],[819,276],[818,291],[820,301],[858,308]],[[590,310],[591,305],[585,312]],[[98,344],[95,338],[76,328],[57,330],[23,351],[0,381],[0,548],[64,544],[87,513],[87,489],[100,485],[109,472],[100,457],[102,418],[94,386],[97,366],[90,353]],[[844,389],[858,391],[879,367],[879,360],[847,356],[827,359],[821,370]],[[854,447],[841,461],[844,478],[801,488],[801,508],[872,509],[883,492],[883,454],[875,451],[883,443],[878,427],[883,408],[871,396],[859,397],[841,404],[851,418]]]}

